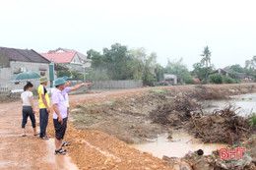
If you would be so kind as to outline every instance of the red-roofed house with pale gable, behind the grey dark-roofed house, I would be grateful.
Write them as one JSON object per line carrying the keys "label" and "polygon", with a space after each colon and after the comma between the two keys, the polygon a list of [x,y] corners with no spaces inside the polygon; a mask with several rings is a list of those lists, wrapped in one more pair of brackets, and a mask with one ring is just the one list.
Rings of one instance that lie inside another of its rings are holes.
{"label": "red-roofed house with pale gable, behind the grey dark-roofed house", "polygon": [[57,48],[49,50],[47,53],[41,53],[41,55],[51,62],[66,65],[80,74],[85,74],[87,69],[91,68],[92,60],[76,50]]}

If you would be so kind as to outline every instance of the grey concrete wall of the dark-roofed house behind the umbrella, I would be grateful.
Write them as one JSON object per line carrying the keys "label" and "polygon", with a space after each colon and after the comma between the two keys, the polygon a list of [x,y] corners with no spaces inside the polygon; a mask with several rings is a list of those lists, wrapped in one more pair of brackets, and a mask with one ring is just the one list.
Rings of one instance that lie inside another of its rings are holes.
{"label": "grey concrete wall of the dark-roofed house behind the umbrella", "polygon": [[[9,82],[10,79],[15,76],[15,73],[19,72],[20,68],[25,68],[28,72],[35,72],[40,75],[40,72],[44,71],[45,76],[49,77],[49,64],[47,63],[32,63],[32,62],[20,62],[11,61],[10,67],[0,68],[0,90],[14,90],[23,89],[23,86],[27,83],[20,83],[20,85],[15,85]],[[39,85],[38,81],[32,81],[33,87],[37,88]],[[48,84],[49,86],[49,84]],[[47,87],[48,87],[47,86]]]}

